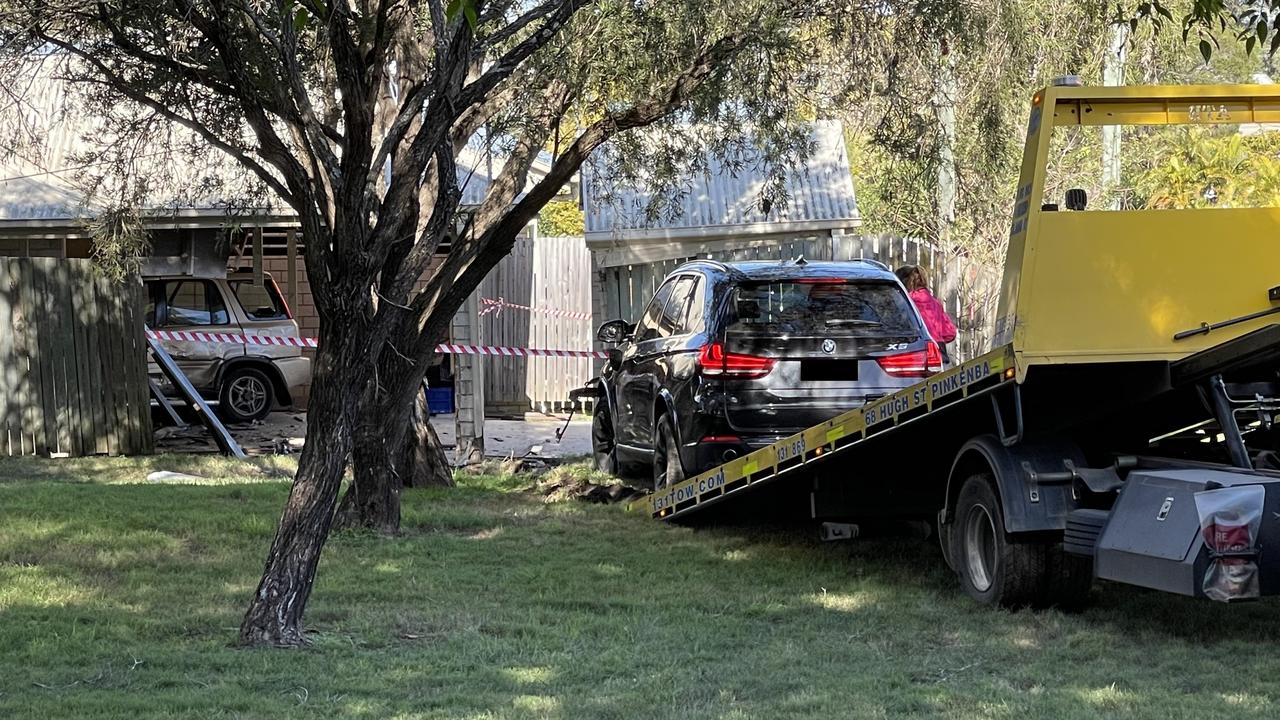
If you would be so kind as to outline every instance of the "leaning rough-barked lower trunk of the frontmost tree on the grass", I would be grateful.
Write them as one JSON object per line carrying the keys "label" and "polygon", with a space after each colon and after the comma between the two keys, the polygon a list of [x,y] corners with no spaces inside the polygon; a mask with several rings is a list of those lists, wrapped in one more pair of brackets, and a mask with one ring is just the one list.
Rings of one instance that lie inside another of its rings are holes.
{"label": "leaning rough-barked lower trunk of the frontmost tree on the grass", "polygon": [[320,346],[307,413],[307,443],[262,579],[241,623],[242,644],[294,647],[305,642],[302,611],[311,596],[351,451],[355,401],[349,388],[365,374],[356,356],[360,345],[347,347],[351,350],[342,352],[337,343],[332,350],[328,343]]}

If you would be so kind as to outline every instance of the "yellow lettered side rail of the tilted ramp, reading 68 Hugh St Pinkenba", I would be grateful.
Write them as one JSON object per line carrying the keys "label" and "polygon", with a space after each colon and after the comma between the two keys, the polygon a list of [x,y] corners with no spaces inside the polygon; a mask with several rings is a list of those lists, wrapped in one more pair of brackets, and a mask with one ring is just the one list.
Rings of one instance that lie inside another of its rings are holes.
{"label": "yellow lettered side rail of the tilted ramp, reading 68 Hugh St Pinkenba", "polygon": [[884,430],[1014,380],[1011,347],[988,352],[631,503],[671,519],[773,480]]}

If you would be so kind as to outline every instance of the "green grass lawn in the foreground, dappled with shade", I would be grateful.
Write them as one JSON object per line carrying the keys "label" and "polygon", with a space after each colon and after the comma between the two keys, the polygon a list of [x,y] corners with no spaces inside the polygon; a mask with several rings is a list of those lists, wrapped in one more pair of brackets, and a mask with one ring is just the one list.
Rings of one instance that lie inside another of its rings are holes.
{"label": "green grass lawn in the foreground, dappled with shade", "polygon": [[0,717],[1280,716],[1276,603],[1001,612],[919,541],[669,527],[511,478],[332,538],[314,644],[239,650],[287,471],[0,461]]}

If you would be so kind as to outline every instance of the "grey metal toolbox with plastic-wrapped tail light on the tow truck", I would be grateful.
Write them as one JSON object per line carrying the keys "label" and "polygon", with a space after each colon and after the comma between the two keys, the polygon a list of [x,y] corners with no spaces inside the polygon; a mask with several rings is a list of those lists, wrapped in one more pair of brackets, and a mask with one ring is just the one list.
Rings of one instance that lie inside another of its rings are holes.
{"label": "grey metal toolbox with plastic-wrapped tail light on the tow truck", "polygon": [[1280,594],[1280,479],[1135,470],[1110,511],[1069,515],[1064,548],[1106,580],[1222,602]]}

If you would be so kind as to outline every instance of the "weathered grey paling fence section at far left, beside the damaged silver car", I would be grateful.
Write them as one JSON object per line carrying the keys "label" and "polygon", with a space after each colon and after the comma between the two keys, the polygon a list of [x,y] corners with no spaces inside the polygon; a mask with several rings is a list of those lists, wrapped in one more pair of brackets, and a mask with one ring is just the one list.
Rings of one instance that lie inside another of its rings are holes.
{"label": "weathered grey paling fence section at far left, beside the damaged silver car", "polygon": [[91,260],[0,258],[0,455],[150,454],[142,315]]}

